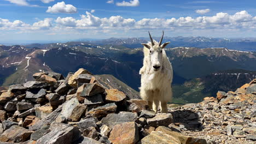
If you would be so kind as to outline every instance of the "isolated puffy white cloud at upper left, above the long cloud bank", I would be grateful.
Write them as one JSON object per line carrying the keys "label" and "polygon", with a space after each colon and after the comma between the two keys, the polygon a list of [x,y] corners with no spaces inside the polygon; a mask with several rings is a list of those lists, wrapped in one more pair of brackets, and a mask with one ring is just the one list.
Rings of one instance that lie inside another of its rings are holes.
{"label": "isolated puffy white cloud at upper left, above the long cloud bank", "polygon": [[65,4],[65,2],[59,2],[53,5],[53,7],[48,7],[47,13],[67,13],[73,14],[77,13],[77,8],[71,4]]}

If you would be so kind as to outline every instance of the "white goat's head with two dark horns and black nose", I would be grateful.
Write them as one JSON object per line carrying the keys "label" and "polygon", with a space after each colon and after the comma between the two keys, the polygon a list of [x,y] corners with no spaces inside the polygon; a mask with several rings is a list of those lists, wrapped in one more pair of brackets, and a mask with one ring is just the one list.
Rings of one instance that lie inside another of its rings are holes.
{"label": "white goat's head with two dark horns and black nose", "polygon": [[158,44],[154,43],[150,33],[149,33],[149,38],[150,38],[151,44],[142,44],[142,45],[149,49],[148,56],[151,62],[151,66],[155,71],[158,71],[162,67],[162,49],[164,49],[166,45],[169,44],[170,42],[161,44],[162,38],[164,38],[164,31],[162,31],[162,38],[160,39]]}

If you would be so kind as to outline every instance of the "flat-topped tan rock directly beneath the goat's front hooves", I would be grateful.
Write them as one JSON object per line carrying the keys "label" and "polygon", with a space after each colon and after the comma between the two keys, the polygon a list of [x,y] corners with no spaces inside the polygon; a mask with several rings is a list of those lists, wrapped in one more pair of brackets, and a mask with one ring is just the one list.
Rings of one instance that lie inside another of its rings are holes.
{"label": "flat-topped tan rock directly beneath the goat's front hooves", "polygon": [[147,123],[152,127],[158,126],[168,126],[173,122],[172,114],[171,113],[156,113],[155,117],[148,118]]}

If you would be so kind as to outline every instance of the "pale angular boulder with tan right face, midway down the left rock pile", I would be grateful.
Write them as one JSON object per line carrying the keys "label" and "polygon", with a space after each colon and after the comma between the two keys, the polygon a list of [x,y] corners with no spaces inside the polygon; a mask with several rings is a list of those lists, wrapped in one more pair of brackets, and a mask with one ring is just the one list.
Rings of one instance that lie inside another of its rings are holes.
{"label": "pale angular boulder with tan right face, midway down the left rock pile", "polygon": [[61,115],[68,121],[78,121],[86,110],[86,106],[79,104],[77,98],[72,98],[63,104]]}

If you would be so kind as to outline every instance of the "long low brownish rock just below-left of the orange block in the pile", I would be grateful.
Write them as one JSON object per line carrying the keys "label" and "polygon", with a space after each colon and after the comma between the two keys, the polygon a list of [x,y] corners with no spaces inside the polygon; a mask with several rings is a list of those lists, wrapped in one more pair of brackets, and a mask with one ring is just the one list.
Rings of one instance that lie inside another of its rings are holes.
{"label": "long low brownish rock just below-left of the orange block in the pile", "polygon": [[86,115],[91,115],[94,117],[105,117],[109,113],[114,113],[117,110],[117,105],[115,103],[106,104],[103,106],[90,106],[88,107],[88,111],[86,112]]}

